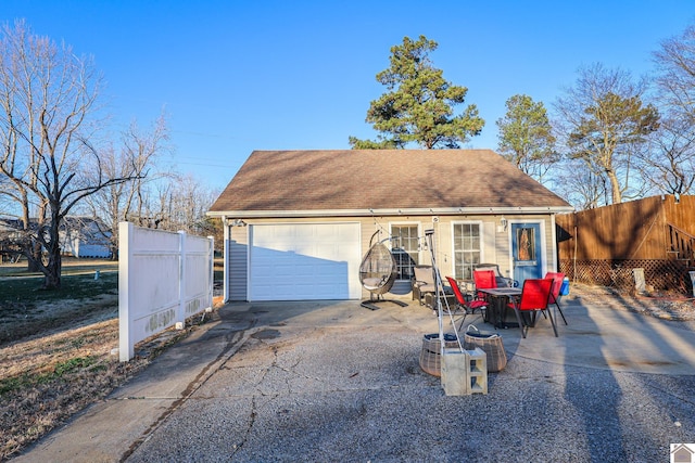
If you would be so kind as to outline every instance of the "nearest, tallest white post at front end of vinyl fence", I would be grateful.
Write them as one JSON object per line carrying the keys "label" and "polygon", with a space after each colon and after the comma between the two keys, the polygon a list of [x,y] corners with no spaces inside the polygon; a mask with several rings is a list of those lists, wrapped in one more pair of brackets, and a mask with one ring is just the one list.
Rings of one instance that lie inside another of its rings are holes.
{"label": "nearest, tallest white post at front end of vinyl fence", "polygon": [[135,356],[134,323],[130,316],[130,275],[134,224],[118,223],[118,359],[127,362]]}

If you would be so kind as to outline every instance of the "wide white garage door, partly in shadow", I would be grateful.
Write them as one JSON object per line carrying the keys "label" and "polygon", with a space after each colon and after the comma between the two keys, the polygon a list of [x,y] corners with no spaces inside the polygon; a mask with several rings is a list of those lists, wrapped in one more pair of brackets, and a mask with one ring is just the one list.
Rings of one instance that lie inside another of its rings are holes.
{"label": "wide white garage door, partly in shadow", "polygon": [[249,300],[357,299],[359,223],[251,226]]}

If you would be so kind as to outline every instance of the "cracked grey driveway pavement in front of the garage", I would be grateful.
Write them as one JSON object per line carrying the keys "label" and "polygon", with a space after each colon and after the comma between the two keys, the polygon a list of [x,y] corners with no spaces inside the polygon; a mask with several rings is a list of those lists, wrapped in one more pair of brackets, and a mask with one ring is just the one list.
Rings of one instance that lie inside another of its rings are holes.
{"label": "cracked grey driveway pavement in front of the garage", "polygon": [[489,394],[451,397],[419,369],[438,321],[417,303],[228,305],[16,460],[646,462],[695,442],[692,323],[581,295],[565,314],[557,338],[501,331]]}

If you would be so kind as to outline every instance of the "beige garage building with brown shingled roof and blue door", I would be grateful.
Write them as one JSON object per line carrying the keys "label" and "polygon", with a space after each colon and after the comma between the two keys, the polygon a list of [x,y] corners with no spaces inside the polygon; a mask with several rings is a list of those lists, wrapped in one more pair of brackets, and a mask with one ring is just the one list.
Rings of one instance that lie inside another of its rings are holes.
{"label": "beige garage building with brown shingled roof and blue door", "polygon": [[397,255],[395,294],[430,263],[471,280],[556,270],[563,198],[490,150],[254,151],[207,213],[224,222],[225,300],[358,299],[370,241]]}

